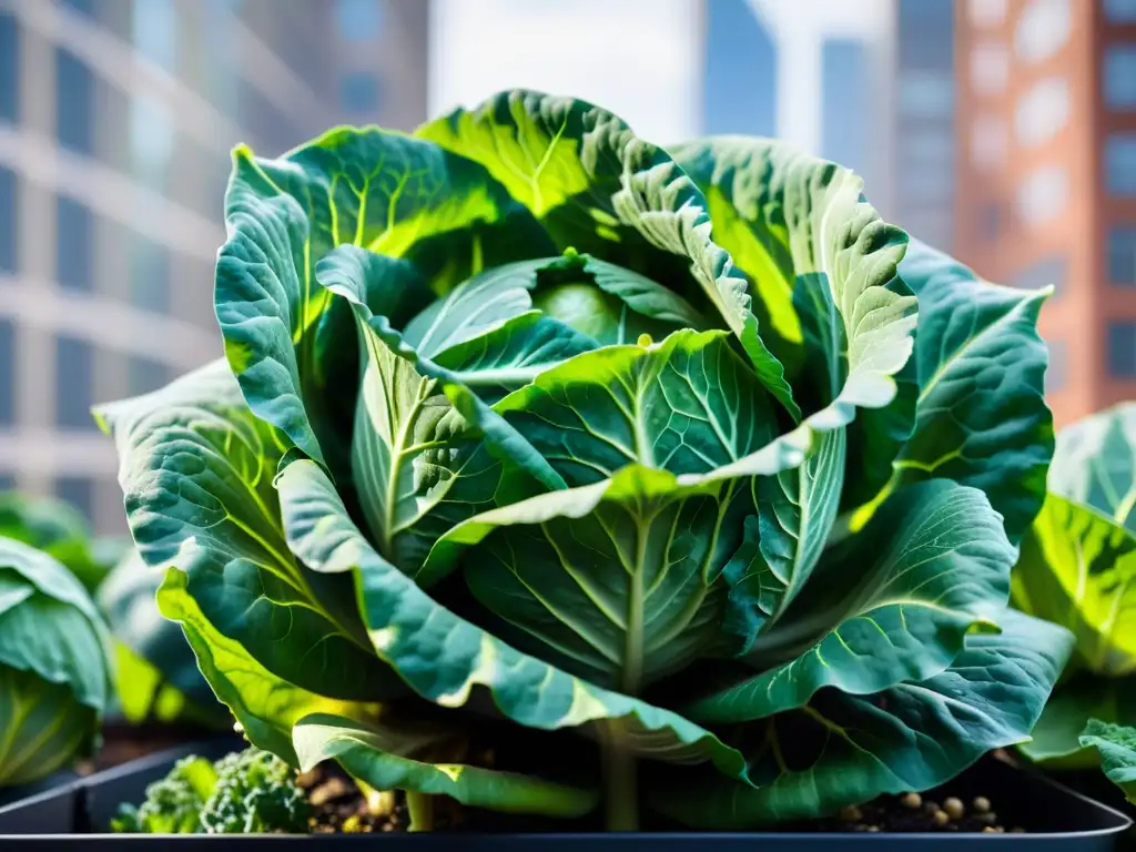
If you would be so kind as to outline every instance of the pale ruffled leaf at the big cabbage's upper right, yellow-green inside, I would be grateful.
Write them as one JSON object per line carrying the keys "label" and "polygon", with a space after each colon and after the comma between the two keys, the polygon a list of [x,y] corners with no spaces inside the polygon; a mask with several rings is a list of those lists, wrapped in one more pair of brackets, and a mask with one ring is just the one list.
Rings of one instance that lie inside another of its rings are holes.
{"label": "pale ruffled leaf at the big cabbage's upper right, yellow-green inside", "polygon": [[[910,402],[896,400],[895,379],[917,321],[916,300],[896,277],[907,234],[879,218],[852,172],[778,142],[709,137],[673,153],[705,193],[713,239],[753,282],[754,310],[774,329],[774,352],[793,367],[802,406],[828,407],[826,416],[847,426],[842,506],[869,500],[887,482],[913,417]],[[843,452],[829,459],[826,469],[785,483],[785,509],[810,482],[844,467]],[[808,516],[808,502],[794,520]]]}

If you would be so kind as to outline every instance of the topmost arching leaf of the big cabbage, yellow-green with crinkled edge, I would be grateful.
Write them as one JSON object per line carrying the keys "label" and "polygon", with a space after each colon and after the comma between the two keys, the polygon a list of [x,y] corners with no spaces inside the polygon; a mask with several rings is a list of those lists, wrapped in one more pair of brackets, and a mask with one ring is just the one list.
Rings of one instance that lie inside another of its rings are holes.
{"label": "topmost arching leaf of the big cabbage, yellow-green with crinkled edge", "polygon": [[710,237],[707,201],[660,148],[586,101],[517,90],[457,109],[416,135],[484,165],[562,250],[667,282],[712,306],[794,418],[784,367],[762,342],[745,276]]}

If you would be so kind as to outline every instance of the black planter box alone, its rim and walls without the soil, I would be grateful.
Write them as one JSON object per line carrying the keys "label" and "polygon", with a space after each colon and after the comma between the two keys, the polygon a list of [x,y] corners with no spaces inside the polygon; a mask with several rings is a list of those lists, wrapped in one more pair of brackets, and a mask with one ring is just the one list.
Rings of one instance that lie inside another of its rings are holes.
{"label": "black planter box alone, its rim and walls without the soil", "polygon": [[[240,749],[228,737],[172,749],[86,778],[65,779],[59,786],[27,799],[0,805],[0,850],[53,849],[82,844],[84,850],[116,850],[124,844],[135,850],[178,849],[323,849],[345,844],[354,849],[379,845],[382,852],[442,852],[460,847],[469,852],[694,852],[713,850],[747,852],[837,852],[853,850],[910,850],[929,846],[934,852],[969,850],[975,844],[999,844],[1026,852],[1112,852],[1133,820],[1112,808],[1074,793],[1033,771],[1013,768],[999,760],[984,760],[943,788],[943,795],[996,796],[1005,825],[1022,825],[1029,834],[836,834],[770,832],[750,834],[356,834],[308,836],[222,835],[114,835],[105,834],[122,802],[139,803],[145,787],[169,771],[186,754],[216,759]],[[929,796],[936,795],[934,792]],[[984,845],[984,849],[989,846]]]}

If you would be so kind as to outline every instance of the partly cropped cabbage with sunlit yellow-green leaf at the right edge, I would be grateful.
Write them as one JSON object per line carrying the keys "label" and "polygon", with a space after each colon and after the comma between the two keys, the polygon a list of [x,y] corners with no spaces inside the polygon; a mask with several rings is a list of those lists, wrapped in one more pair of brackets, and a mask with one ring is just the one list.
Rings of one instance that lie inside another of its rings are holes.
{"label": "partly cropped cabbage with sunlit yellow-green leaf at the right edge", "polygon": [[[1061,431],[1049,494],[1013,574],[1019,609],[1077,637],[1072,662],[1045,705],[1036,761],[1081,767],[1116,725],[1136,725],[1136,403]],[[1091,719],[1102,722],[1086,730]]]}

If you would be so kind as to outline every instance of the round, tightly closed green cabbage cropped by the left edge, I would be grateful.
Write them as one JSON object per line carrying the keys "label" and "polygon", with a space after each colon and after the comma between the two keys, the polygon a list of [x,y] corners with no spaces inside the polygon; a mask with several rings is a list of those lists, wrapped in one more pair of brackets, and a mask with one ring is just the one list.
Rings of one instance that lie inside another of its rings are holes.
{"label": "round, tightly closed green cabbage cropped by the left edge", "polygon": [[89,757],[110,695],[107,628],[58,560],[0,536],[0,787]]}

